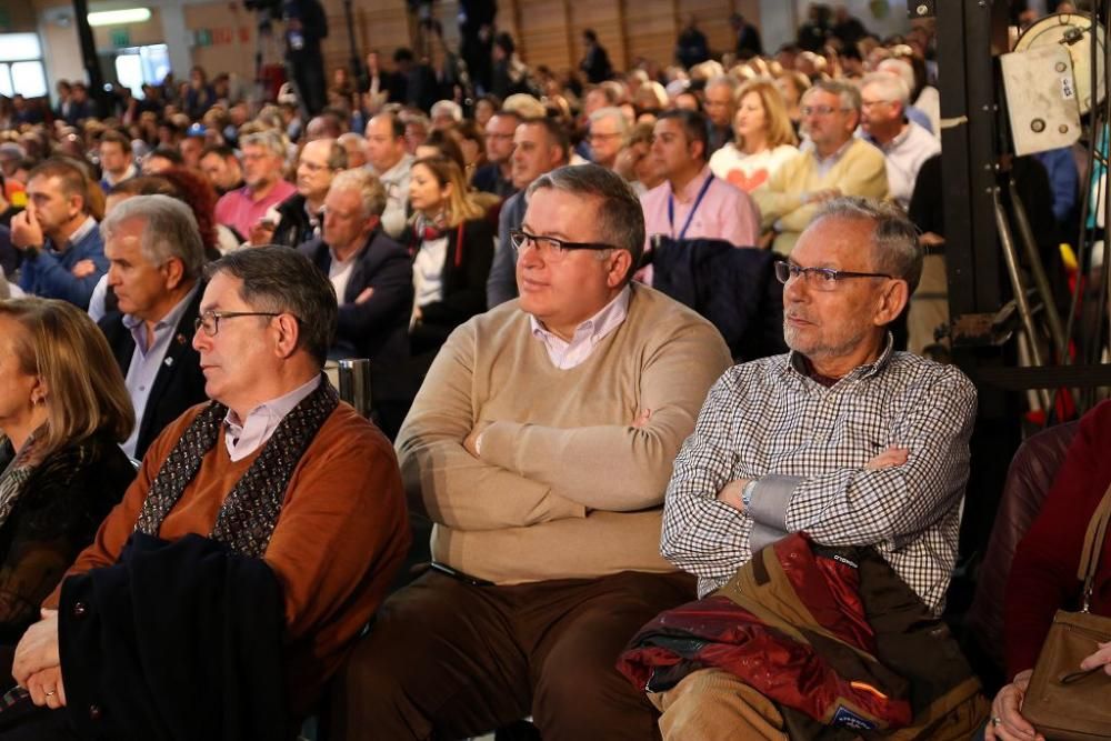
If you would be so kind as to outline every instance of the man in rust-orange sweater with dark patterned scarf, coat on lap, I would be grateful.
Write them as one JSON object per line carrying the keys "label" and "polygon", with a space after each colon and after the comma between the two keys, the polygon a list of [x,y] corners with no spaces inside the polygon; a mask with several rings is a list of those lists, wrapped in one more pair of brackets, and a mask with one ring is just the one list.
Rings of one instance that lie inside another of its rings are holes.
{"label": "man in rust-orange sweater with dark patterned scarf, coat on lap", "polygon": [[[34,720],[41,738],[213,738],[209,713],[218,738],[263,738],[251,729],[270,709],[289,733],[313,705],[409,544],[393,451],[321,374],[336,310],[289,248],[213,263],[193,338],[212,403],[154,441],[17,649],[34,702],[69,703]],[[240,595],[259,591],[260,567],[277,599],[256,604]]]}

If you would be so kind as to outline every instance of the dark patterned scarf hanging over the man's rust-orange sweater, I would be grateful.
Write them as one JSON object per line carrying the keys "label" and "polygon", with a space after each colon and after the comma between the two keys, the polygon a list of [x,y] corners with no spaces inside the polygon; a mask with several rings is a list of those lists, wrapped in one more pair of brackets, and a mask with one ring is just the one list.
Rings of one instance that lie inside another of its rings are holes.
{"label": "dark patterned scarf hanging over the man's rust-orange sweater", "polygon": [[[336,389],[328,379],[321,379],[320,385],[282,418],[220,508],[210,534],[213,540],[243,555],[262,557],[278,524],[293,469],[338,404]],[[136,522],[137,531],[158,537],[166,515],[219,439],[227,413],[227,407],[213,401],[181,434],[151,483]]]}

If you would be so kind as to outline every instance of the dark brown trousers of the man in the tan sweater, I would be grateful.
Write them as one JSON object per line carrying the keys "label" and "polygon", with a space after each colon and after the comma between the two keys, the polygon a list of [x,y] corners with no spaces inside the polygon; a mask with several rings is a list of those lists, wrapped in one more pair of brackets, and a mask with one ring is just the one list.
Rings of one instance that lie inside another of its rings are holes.
{"label": "dark brown trousers of the man in the tan sweater", "polygon": [[428,572],[387,600],[341,670],[332,738],[459,739],[530,714],[544,741],[659,738],[614,663],[693,598],[682,573],[474,587]]}

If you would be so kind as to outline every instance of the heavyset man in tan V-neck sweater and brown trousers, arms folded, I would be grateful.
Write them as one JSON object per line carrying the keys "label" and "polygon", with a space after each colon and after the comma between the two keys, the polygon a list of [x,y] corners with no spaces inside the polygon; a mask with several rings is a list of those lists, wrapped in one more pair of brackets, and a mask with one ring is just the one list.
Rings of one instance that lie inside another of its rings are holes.
{"label": "heavyset man in tan V-neck sweater and brown trousers, arms folded", "polygon": [[529,188],[521,297],[448,340],[398,438],[433,569],[396,593],[337,702],[342,739],[651,739],[618,674],[632,633],[693,584],[659,554],[671,464],[730,363],[718,332],[630,286],[644,224],[613,172]]}

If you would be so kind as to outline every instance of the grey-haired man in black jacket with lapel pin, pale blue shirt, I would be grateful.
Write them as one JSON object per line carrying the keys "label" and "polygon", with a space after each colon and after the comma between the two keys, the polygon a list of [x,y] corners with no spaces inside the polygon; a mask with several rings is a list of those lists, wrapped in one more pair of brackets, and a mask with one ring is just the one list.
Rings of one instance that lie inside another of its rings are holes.
{"label": "grey-haired man in black jacket with lapel pin, pale blue shirt", "polygon": [[134,404],[123,452],[142,460],[167,424],[206,399],[192,348],[204,248],[189,207],[169,196],[129,198],[100,229],[119,308],[98,323]]}

